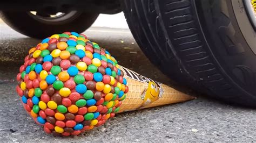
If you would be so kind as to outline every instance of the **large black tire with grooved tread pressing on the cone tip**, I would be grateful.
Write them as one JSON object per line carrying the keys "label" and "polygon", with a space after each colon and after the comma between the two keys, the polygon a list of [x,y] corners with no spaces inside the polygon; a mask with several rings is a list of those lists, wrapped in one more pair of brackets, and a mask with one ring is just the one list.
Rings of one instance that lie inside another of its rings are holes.
{"label": "large black tire with grooved tread pressing on the cone tip", "polygon": [[242,0],[120,2],[134,39],[164,74],[214,98],[256,107],[256,33]]}

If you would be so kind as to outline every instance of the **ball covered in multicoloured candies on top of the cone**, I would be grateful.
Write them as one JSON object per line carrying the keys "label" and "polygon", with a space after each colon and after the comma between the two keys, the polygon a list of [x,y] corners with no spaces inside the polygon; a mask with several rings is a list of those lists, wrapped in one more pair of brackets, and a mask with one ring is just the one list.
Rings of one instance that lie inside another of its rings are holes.
{"label": "ball covered in multicoloured candies on top of the cone", "polygon": [[77,135],[119,111],[128,87],[118,63],[84,34],[64,32],[29,51],[17,92],[36,123],[53,135]]}

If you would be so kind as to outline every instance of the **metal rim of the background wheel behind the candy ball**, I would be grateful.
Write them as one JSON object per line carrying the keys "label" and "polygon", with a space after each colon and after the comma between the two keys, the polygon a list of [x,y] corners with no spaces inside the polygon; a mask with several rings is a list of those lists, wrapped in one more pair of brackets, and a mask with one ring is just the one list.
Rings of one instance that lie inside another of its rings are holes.
{"label": "metal rim of the background wheel behind the candy ball", "polygon": [[53,15],[45,12],[36,12],[36,11],[30,11],[27,13],[29,16],[38,20],[39,22],[53,24],[53,25],[60,24],[60,23],[62,24],[68,23],[81,14],[81,12],[78,12],[78,11],[70,11],[67,13],[57,12]]}

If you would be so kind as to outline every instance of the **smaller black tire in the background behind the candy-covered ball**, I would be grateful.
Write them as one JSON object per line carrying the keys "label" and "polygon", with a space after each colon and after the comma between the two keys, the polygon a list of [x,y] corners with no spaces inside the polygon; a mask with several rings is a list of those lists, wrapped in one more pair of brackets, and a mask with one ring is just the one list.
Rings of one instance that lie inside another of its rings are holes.
{"label": "smaller black tire in the background behind the candy-covered ball", "polygon": [[52,33],[84,32],[97,19],[99,13],[76,12],[71,17],[52,21],[39,19],[30,12],[2,11],[3,21],[19,33],[32,38],[46,38]]}

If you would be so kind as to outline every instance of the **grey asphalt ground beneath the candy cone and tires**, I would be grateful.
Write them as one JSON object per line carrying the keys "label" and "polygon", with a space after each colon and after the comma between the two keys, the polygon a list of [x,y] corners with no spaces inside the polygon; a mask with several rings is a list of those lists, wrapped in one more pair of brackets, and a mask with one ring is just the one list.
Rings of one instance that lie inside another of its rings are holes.
{"label": "grey asphalt ground beneath the candy cone and tires", "polygon": [[[84,34],[116,57],[120,65],[183,89],[154,67],[129,29],[91,27]],[[0,22],[0,141],[256,141],[256,111],[197,95],[192,101],[120,113],[103,126],[75,137],[53,137],[34,123],[16,94],[18,68],[40,40]]]}

